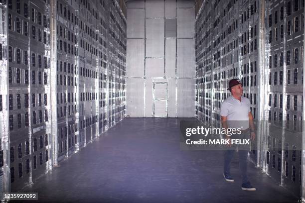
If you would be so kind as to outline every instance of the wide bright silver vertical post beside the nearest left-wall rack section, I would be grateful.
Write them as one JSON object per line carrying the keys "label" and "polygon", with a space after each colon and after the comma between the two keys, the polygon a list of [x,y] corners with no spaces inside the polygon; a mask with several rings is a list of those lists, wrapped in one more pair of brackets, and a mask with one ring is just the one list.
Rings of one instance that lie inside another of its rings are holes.
{"label": "wide bright silver vertical post beside the nearest left-wall rack section", "polygon": [[57,0],[50,0],[50,69],[51,69],[51,158],[52,158],[52,166],[58,166],[58,151],[57,151],[57,73],[56,73],[56,63],[57,63],[57,46],[56,46],[56,25],[57,25]]}

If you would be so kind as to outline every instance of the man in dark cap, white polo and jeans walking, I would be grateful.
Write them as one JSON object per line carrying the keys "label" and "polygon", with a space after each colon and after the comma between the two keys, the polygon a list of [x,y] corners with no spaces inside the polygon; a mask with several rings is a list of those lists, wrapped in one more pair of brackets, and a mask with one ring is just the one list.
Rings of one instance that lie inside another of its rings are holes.
{"label": "man in dark cap, white polo and jeans walking", "polygon": [[[228,90],[231,92],[231,96],[228,97],[221,105],[220,115],[223,128],[241,128],[241,134],[236,135],[239,138],[249,138],[249,131],[251,131],[251,140],[255,139],[255,127],[253,123],[253,116],[250,111],[249,99],[242,97],[243,87],[238,79],[232,79],[229,82]],[[250,125],[250,129],[249,129]],[[224,155],[224,173],[223,176],[226,181],[234,182],[230,174],[230,165],[235,152],[235,147],[231,145],[231,137],[225,135],[226,139],[229,139],[228,150]],[[247,162],[248,151],[239,149],[239,168],[242,175],[242,190],[255,191],[247,177]]]}

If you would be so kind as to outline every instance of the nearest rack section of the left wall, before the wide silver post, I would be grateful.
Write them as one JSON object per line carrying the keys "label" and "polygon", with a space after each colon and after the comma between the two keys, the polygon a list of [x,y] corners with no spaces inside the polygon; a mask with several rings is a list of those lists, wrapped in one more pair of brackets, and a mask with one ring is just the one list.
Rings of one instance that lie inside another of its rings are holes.
{"label": "nearest rack section of the left wall, before the wide silver post", "polygon": [[10,188],[50,169],[49,4],[7,1]]}

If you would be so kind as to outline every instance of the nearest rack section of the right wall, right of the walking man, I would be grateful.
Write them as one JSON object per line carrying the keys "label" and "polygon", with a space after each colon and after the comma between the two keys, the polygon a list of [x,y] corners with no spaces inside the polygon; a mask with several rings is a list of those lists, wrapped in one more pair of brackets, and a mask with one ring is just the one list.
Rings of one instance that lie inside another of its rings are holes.
{"label": "nearest rack section of the right wall, right of the walking man", "polygon": [[269,1],[266,9],[268,173],[301,196],[304,0]]}

